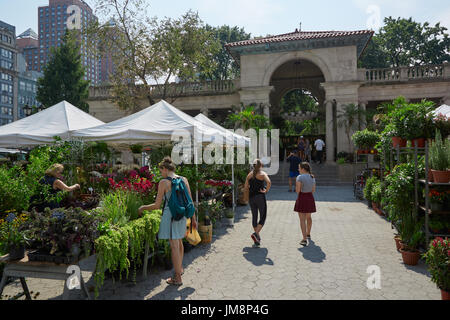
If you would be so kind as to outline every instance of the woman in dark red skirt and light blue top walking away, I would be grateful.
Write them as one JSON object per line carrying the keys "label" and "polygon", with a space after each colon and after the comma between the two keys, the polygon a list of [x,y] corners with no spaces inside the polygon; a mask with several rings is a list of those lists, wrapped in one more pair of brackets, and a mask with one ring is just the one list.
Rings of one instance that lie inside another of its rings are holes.
{"label": "woman in dark red skirt and light blue top walking away", "polygon": [[298,212],[300,228],[303,234],[300,244],[306,246],[308,244],[307,238],[311,239],[311,213],[316,212],[316,202],[313,196],[313,193],[316,191],[316,179],[312,175],[311,166],[308,162],[302,162],[299,167],[300,175],[295,183],[295,192],[297,192],[298,197],[294,211]]}

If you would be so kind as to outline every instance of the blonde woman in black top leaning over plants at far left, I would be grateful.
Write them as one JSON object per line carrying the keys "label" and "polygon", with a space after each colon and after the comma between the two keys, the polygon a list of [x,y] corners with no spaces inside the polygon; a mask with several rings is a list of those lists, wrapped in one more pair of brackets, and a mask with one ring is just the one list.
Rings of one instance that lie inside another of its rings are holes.
{"label": "blonde woman in black top leaning over plants at far left", "polygon": [[[60,163],[55,163],[50,166],[45,171],[44,177],[39,180],[39,183],[42,185],[50,186],[50,196],[56,196],[60,191],[74,191],[76,189],[80,189],[79,184],[74,184],[72,186],[67,186],[62,181],[62,173],[64,171],[64,166]],[[36,197],[35,197],[36,198]],[[37,198],[36,198],[37,199]],[[59,208],[60,204],[57,200],[51,199],[40,199],[41,203],[36,206],[38,211],[43,211],[45,208],[50,208],[51,210]]]}

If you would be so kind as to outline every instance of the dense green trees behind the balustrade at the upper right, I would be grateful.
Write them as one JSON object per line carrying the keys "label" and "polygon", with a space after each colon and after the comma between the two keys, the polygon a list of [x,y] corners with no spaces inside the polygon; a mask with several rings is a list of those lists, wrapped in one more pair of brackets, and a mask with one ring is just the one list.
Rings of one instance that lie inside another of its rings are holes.
{"label": "dense green trees behind the balustrade at the upper right", "polygon": [[450,39],[440,23],[386,17],[361,58],[365,68],[441,64],[450,61]]}

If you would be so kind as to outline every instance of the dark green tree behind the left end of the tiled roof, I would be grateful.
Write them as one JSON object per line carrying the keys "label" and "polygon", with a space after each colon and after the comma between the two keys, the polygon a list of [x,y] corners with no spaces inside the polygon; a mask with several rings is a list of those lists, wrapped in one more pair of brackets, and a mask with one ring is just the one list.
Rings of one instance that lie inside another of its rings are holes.
{"label": "dark green tree behind the left end of the tiled roof", "polygon": [[239,78],[240,68],[236,60],[228,53],[225,44],[250,39],[250,33],[246,33],[244,28],[230,27],[227,25],[221,27],[212,27],[206,25],[205,29],[220,42],[220,50],[213,56],[215,68],[210,72],[200,72],[202,80],[230,80]]}

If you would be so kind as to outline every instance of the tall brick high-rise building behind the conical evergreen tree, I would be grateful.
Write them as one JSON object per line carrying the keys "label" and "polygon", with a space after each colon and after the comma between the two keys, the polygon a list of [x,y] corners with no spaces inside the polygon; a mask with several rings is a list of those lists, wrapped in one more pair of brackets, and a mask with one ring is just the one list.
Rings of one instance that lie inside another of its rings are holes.
{"label": "tall brick high-rise building behind the conical evergreen tree", "polygon": [[97,19],[89,5],[82,0],[49,0],[49,5],[38,8],[39,17],[39,71],[48,63],[52,47],[59,47],[66,29],[79,31],[80,54],[85,68],[85,80],[91,85],[100,82],[100,59],[96,46],[83,33],[88,23]]}

